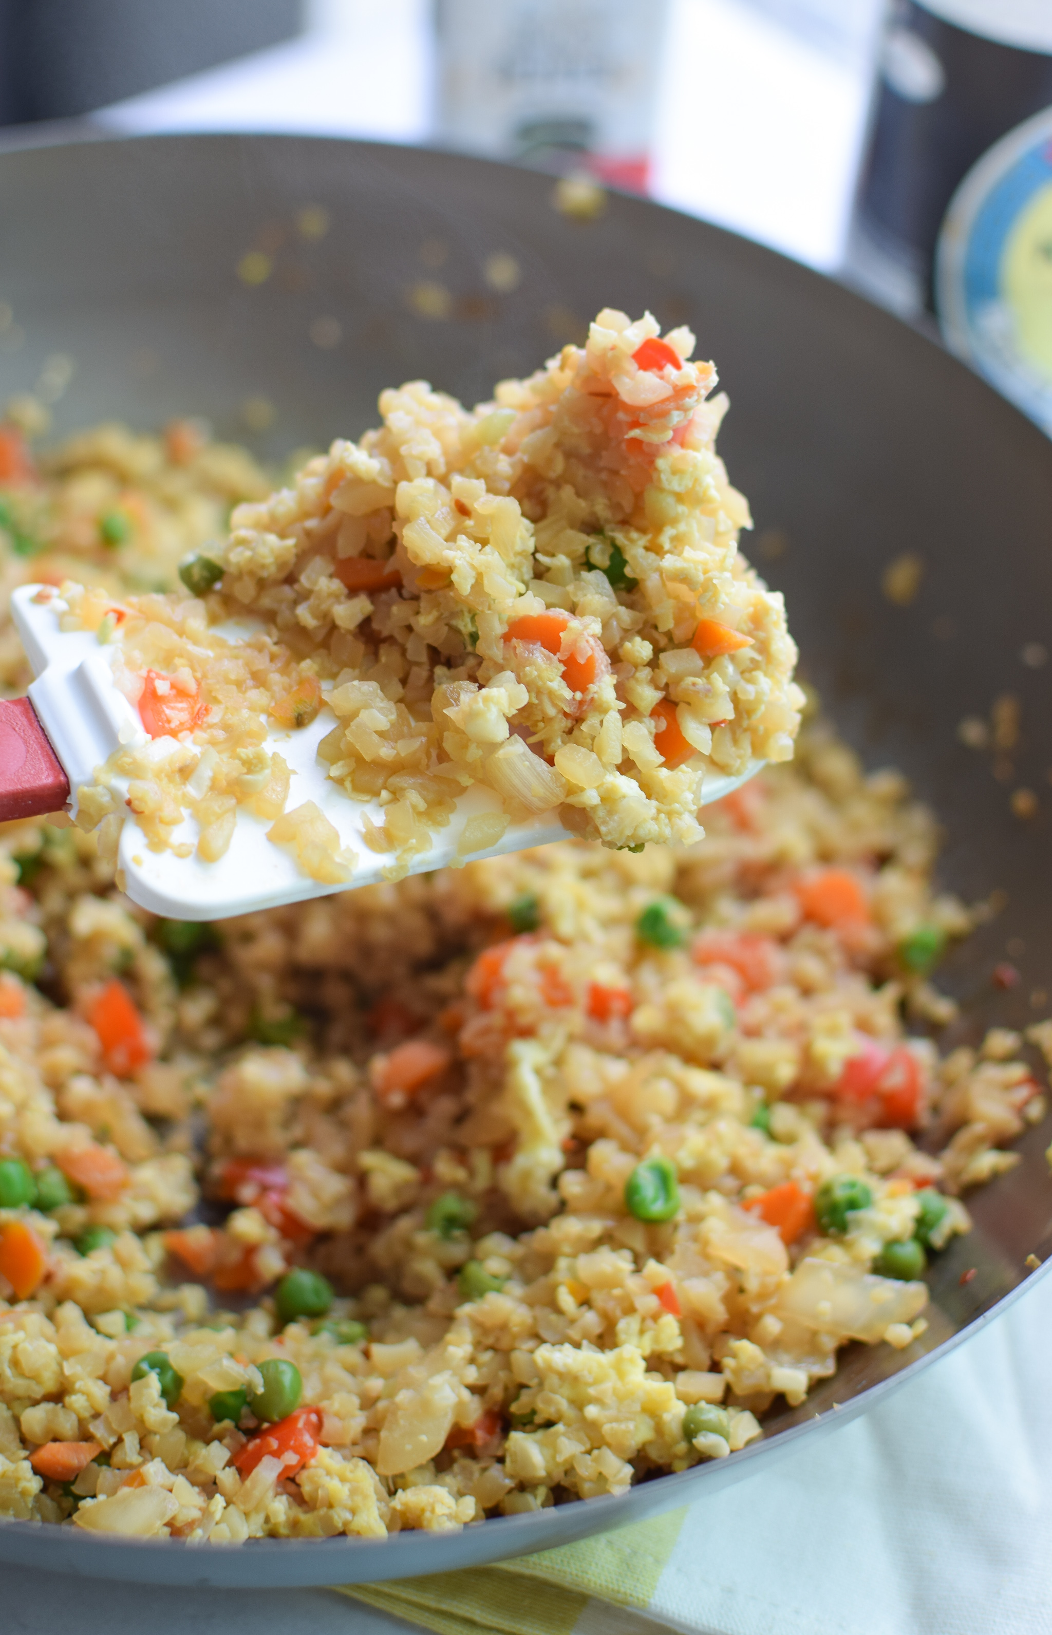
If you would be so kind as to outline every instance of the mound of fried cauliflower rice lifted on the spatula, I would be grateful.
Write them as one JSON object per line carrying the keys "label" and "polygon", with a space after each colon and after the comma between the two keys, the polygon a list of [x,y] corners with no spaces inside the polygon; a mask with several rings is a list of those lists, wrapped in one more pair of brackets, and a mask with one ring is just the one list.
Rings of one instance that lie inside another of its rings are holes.
{"label": "mound of fried cauliflower rice lifted on the spatula", "polygon": [[[116,644],[144,729],[79,791],[77,821],[113,852],[131,778],[155,850],[190,813],[214,862],[247,806],[308,875],[350,880],[353,853],[314,803],[286,811],[288,765],[265,749],[324,711],[319,755],[380,803],[365,839],[393,878],[479,783],[497,806],[466,852],[555,809],[610,847],[699,840],[705,777],[789,760],[803,695],[782,597],[738,554],[726,397],[707,401],[694,345],[604,311],[584,348],[474,410],[422,381],[384,391],[378,432],[234,508],[226,541],[183,564],[193,595],[113,607],[64,584],[62,628]],[[231,641],[245,615],[255,634]]]}

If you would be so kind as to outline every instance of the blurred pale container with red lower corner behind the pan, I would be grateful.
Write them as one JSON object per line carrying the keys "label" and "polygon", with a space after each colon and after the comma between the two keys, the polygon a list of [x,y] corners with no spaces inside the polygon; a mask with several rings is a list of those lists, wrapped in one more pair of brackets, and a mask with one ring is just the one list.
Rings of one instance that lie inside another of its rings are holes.
{"label": "blurred pale container with red lower corner behind the pan", "polygon": [[668,0],[437,0],[435,136],[646,191]]}

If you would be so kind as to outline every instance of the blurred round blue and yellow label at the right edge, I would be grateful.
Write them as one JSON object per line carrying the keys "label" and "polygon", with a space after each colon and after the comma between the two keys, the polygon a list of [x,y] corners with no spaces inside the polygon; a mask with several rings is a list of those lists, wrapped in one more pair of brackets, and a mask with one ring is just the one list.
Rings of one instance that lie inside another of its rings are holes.
{"label": "blurred round blue and yellow label at the right edge", "polygon": [[1052,108],[969,172],[939,235],[947,345],[1052,435]]}

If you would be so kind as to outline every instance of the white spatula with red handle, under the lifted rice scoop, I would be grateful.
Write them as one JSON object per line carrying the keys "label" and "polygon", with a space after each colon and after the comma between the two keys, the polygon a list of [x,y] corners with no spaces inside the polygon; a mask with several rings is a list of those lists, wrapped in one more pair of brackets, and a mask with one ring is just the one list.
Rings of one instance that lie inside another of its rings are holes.
{"label": "white spatula with red handle, under the lifted rice scoop", "polygon": [[[77,790],[92,783],[95,768],[115,749],[131,744],[164,754],[172,747],[147,736],[137,710],[116,688],[111,672],[116,649],[100,646],[92,631],[59,629],[65,603],[51,590],[44,592],[46,600],[38,600],[38,592],[39,585],[23,585],[11,597],[15,623],[36,680],[29,685],[28,700],[0,700],[0,821],[62,809],[75,814]],[[151,852],[129,811],[118,858],[128,896],[167,919],[214,921],[384,880],[393,855],[373,852],[363,839],[366,819],[383,824],[383,808],[378,801],[350,800],[327,777],[317,759],[317,744],[330,729],[330,711],[322,710],[298,731],[272,731],[265,747],[283,755],[293,772],[290,808],[314,801],[339,831],[340,844],[355,853],[357,865],[347,883],[319,885],[311,880],[290,852],[267,839],[272,821],[245,809],[237,813],[229,850],[214,863],[205,863],[196,855],[177,857],[172,850]],[[758,770],[759,762],[743,777],[707,780],[704,804],[730,795]],[[119,782],[115,786],[119,788]],[[468,818],[497,809],[492,790],[483,785],[466,790],[447,827],[437,831],[434,847],[414,857],[409,871],[425,873],[463,862],[458,842]],[[568,834],[553,811],[510,824],[497,845],[471,857],[520,852],[566,839]],[[195,818],[185,818],[172,831],[175,844],[196,845],[196,839]]]}

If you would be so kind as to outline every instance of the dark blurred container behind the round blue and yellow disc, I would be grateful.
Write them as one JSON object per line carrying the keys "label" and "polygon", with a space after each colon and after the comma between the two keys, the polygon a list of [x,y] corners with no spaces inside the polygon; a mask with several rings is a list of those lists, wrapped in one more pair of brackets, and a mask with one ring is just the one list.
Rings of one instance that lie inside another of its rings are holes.
{"label": "dark blurred container behind the round blue and yellow disc", "polygon": [[936,242],[965,172],[1052,103],[1052,0],[893,0],[847,278],[903,317],[936,309]]}

